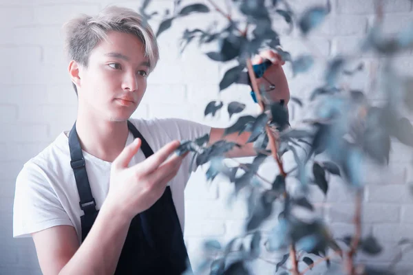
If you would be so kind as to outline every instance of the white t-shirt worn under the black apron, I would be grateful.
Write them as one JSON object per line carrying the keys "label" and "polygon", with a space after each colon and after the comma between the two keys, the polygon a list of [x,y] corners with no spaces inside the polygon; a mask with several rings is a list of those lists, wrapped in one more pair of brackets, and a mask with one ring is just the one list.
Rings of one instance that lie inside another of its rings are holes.
{"label": "white t-shirt worn under the black apron", "polygon": [[[142,133],[153,152],[172,140],[194,140],[211,130],[210,126],[180,119],[130,119]],[[13,209],[13,236],[28,237],[56,225],[72,225],[81,243],[81,216],[79,195],[70,166],[68,144],[69,131],[62,132],[56,140],[39,155],[26,162],[17,176]],[[134,136],[129,132],[126,144]],[[87,177],[96,209],[102,206],[109,190],[110,162],[105,162],[83,151]],[[189,179],[189,166],[192,154],[182,162],[178,174],[170,182],[173,203],[178,214],[182,231],[184,230],[184,188]],[[129,165],[145,159],[142,151],[131,159]],[[191,170],[195,170],[195,165]]]}

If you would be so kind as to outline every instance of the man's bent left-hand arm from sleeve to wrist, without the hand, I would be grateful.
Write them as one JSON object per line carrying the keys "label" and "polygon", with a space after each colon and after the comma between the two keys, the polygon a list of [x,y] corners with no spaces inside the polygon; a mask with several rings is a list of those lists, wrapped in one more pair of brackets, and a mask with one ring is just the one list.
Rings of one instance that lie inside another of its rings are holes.
{"label": "man's bent left-hand arm from sleeve to wrist, without the hand", "polygon": [[82,245],[70,225],[33,233],[41,271],[55,274],[114,274],[131,219],[105,207]]}

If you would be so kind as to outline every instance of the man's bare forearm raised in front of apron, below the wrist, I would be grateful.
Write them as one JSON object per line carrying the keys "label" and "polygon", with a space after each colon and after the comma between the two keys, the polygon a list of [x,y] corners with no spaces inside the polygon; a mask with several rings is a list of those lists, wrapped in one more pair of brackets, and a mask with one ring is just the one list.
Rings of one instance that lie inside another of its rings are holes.
{"label": "man's bare forearm raised in front of apron, below the wrist", "polygon": [[59,274],[114,274],[130,223],[103,203],[85,241]]}

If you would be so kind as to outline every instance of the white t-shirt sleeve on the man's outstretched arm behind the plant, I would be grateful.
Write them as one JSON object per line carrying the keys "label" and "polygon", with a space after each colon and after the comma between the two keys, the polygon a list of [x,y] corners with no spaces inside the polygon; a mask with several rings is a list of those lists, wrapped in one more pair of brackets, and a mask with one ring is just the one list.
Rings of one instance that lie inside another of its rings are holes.
{"label": "white t-shirt sleeve on the man's outstretched arm behind the plant", "polygon": [[[172,140],[195,140],[198,137],[211,133],[211,126],[199,122],[193,122],[191,120],[166,118],[160,119],[159,122],[160,125],[164,127],[165,131],[167,131],[168,135],[170,135]],[[187,168],[188,170],[191,169],[192,171],[197,169],[195,162],[193,162],[191,166],[191,160],[194,154],[195,153],[191,152],[187,155],[185,162],[182,163],[187,166],[184,168]]]}

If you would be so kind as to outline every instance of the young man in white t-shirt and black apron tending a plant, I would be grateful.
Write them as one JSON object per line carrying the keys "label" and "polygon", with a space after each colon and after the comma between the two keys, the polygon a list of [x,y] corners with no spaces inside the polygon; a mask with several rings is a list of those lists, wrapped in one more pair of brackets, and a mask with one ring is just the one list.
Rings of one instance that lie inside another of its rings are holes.
{"label": "young man in white t-shirt and black apron tending a plant", "polygon": [[[125,8],[65,25],[78,114],[17,177],[14,237],[32,236],[43,274],[181,274],[187,268],[184,186],[190,157],[171,155],[179,140],[224,129],[178,119],[130,119],[158,61],[149,25]],[[266,80],[288,103],[281,62]],[[249,133],[228,135],[245,144]],[[138,137],[138,138],[137,138]],[[246,144],[229,157],[255,155]],[[195,170],[195,167],[192,167]],[[87,237],[86,237],[87,236]]]}

